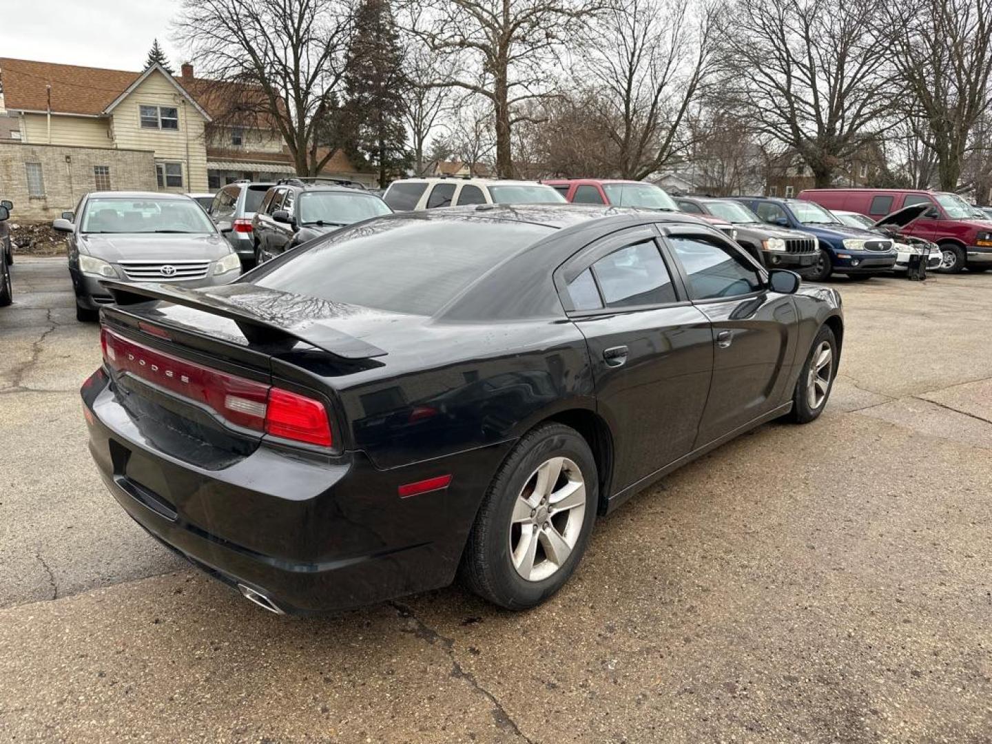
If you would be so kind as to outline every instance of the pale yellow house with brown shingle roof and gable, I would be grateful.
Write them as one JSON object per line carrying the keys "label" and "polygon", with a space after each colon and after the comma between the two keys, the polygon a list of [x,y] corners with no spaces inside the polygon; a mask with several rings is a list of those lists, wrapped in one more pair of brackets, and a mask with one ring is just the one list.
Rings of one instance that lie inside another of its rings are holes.
{"label": "pale yellow house with brown shingle roof and gable", "polygon": [[[128,72],[0,59],[0,84],[3,107],[19,117],[14,140],[148,151],[160,190],[206,190],[204,131],[211,117],[162,66]],[[94,175],[96,187],[100,175]],[[112,172],[106,177],[113,187]]]}

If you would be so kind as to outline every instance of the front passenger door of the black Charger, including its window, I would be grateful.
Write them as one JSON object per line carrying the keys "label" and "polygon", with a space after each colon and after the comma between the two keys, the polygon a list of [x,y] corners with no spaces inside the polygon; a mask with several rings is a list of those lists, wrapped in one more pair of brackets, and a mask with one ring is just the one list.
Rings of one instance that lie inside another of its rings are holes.
{"label": "front passenger door of the black Charger, including its window", "polygon": [[792,296],[772,292],[767,274],[730,241],[702,228],[664,230],[688,298],[713,328],[713,376],[699,447],[785,402],[799,315]]}

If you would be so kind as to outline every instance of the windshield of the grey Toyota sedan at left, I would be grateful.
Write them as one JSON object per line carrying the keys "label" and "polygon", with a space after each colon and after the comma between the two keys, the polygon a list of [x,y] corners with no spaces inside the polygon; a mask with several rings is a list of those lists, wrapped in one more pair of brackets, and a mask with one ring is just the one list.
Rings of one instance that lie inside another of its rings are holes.
{"label": "windshield of the grey Toyota sedan at left", "polygon": [[82,232],[213,233],[206,212],[189,198],[92,198],[82,216]]}

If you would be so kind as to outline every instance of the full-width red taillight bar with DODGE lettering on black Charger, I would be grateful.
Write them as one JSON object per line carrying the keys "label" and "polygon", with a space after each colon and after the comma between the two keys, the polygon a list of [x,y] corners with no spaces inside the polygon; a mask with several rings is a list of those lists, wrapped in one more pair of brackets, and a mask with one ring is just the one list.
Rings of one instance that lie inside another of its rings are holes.
{"label": "full-width red taillight bar with DODGE lettering on black Charger", "polygon": [[[146,329],[147,330],[147,329]],[[239,427],[330,446],[330,421],[319,401],[180,359],[100,329],[107,365],[208,406]]]}

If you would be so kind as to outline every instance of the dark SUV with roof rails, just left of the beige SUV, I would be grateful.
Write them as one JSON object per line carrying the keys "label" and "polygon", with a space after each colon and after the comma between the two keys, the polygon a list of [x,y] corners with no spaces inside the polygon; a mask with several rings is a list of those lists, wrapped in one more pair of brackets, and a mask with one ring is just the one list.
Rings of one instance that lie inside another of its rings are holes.
{"label": "dark SUV with roof rails, just left of the beige SUV", "polygon": [[351,186],[291,179],[269,189],[255,216],[255,263],[352,222],[389,214],[379,196]]}

